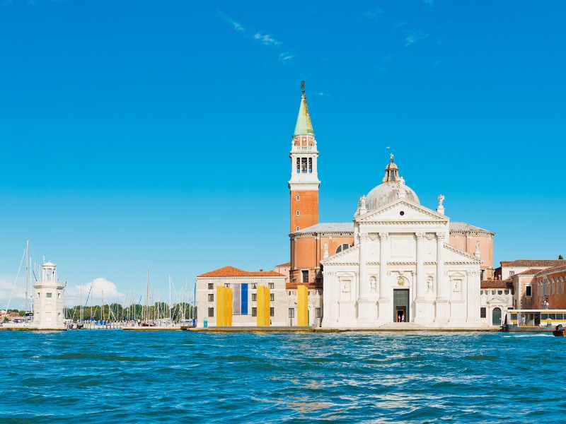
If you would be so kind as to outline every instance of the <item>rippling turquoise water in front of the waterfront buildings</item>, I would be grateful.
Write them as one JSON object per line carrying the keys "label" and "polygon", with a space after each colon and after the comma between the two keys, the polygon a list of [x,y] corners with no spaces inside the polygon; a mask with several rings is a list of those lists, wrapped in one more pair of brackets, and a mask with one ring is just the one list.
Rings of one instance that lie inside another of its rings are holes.
{"label": "rippling turquoise water in front of the waterfront buildings", "polygon": [[1,423],[566,422],[566,338],[0,331]]}

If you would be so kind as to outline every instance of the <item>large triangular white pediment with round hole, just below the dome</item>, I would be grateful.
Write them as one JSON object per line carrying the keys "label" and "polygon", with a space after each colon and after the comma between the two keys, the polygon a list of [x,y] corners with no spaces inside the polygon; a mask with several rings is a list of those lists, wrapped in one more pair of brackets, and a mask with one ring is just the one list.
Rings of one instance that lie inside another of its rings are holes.
{"label": "large triangular white pediment with round hole, just below the dome", "polygon": [[449,222],[447,216],[432,209],[425,208],[408,199],[398,199],[391,204],[383,206],[374,211],[364,213],[354,218],[359,223],[382,223],[382,222]]}

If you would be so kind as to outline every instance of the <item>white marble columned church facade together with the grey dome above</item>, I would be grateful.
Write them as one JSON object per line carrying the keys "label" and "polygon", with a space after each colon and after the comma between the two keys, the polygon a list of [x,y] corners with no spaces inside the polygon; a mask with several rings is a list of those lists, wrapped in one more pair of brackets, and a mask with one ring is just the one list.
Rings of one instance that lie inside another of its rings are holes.
{"label": "white marble columned church facade together with the grey dome above", "polygon": [[437,211],[421,206],[391,158],[383,184],[359,201],[354,246],[321,261],[323,327],[482,325],[482,261],[449,245],[443,200]]}

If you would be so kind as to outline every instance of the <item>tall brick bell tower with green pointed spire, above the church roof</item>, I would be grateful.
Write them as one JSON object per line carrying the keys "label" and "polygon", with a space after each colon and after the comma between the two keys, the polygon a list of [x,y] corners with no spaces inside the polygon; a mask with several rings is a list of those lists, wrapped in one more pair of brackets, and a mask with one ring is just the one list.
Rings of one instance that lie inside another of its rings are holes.
{"label": "tall brick bell tower with green pointed spire, above the church roof", "polygon": [[291,144],[291,232],[318,224],[318,181],[316,160],[318,151],[311,124],[311,115],[306,105],[305,82],[301,81],[301,105],[296,119]]}

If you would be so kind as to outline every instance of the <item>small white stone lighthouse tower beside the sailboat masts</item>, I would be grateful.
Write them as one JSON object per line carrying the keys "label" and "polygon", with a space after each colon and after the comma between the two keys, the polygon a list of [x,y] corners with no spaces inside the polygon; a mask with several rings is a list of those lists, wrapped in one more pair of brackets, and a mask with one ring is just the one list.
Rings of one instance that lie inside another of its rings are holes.
{"label": "small white stone lighthouse tower beside the sailboat masts", "polygon": [[34,288],[33,327],[40,330],[65,329],[63,314],[63,285],[57,281],[57,265],[45,262],[41,281]]}

